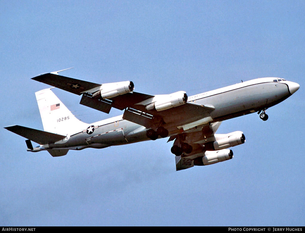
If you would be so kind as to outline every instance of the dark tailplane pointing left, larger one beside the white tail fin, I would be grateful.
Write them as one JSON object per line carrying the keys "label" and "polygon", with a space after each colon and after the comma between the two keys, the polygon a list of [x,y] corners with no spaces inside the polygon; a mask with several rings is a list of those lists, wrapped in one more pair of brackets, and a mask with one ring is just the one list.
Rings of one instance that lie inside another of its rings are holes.
{"label": "dark tailplane pointing left, larger one beside the white tail fin", "polygon": [[31,129],[20,125],[13,125],[4,128],[24,138],[30,139],[33,142],[37,142],[40,145],[57,142],[63,138],[66,138],[66,136],[60,134],[53,134],[46,131]]}

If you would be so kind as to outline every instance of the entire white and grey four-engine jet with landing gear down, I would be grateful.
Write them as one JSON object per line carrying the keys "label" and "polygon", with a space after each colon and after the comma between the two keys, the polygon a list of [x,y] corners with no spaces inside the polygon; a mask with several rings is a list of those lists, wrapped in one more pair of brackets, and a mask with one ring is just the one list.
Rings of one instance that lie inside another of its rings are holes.
{"label": "entire white and grey four-engine jet with landing gear down", "polygon": [[[63,71],[63,70],[60,70]],[[185,91],[147,95],[133,91],[131,81],[96,84],[45,73],[32,79],[77,95],[80,104],[109,113],[124,114],[91,124],[78,120],[47,88],[35,93],[45,131],[19,125],[5,127],[25,138],[27,151],[48,151],[52,156],[68,150],[105,148],[169,137],[176,170],[210,165],[233,158],[229,147],[245,142],[241,131],[215,134],[221,121],[257,112],[267,120],[266,109],[282,102],[300,85],[281,78],[258,78],[188,97]],[[33,147],[32,143],[39,144]]]}

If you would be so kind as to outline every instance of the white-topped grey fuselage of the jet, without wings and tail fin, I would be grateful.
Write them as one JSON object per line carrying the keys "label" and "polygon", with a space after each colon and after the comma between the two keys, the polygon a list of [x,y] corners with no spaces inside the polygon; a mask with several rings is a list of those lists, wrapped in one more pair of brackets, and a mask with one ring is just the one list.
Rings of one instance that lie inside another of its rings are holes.
{"label": "white-topped grey fuselage of the jet, without wings and tail fin", "polygon": [[[258,112],[282,102],[292,95],[298,84],[278,78],[259,78],[213,91],[188,97],[188,102],[215,107],[209,123]],[[123,120],[123,115],[88,124],[87,128],[75,129],[63,140],[41,146],[45,149],[105,148],[149,140],[144,126]],[[187,116],[185,116],[187,117]],[[63,121],[62,124],[65,124]],[[168,129],[169,136],[181,129]]]}

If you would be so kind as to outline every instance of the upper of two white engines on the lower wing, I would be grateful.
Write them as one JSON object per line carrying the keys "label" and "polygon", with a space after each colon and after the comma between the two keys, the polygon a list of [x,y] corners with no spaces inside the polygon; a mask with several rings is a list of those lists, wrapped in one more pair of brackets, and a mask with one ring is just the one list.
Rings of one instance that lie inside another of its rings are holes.
{"label": "upper of two white engines on the lower wing", "polygon": [[229,134],[215,134],[215,138],[217,139],[216,141],[204,144],[205,150],[221,150],[246,142],[246,137],[241,131]]}

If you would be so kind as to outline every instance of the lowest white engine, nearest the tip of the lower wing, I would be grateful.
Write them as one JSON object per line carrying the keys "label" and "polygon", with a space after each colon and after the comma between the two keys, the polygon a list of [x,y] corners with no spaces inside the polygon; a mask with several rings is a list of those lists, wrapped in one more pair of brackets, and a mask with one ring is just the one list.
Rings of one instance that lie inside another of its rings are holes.
{"label": "lowest white engine, nearest the tip of the lower wing", "polygon": [[230,160],[233,158],[233,151],[229,149],[219,150],[219,151],[206,151],[205,156],[198,157],[194,160],[194,165],[204,166],[210,165],[218,162],[223,162],[225,160]]}

